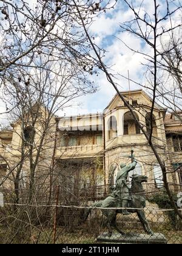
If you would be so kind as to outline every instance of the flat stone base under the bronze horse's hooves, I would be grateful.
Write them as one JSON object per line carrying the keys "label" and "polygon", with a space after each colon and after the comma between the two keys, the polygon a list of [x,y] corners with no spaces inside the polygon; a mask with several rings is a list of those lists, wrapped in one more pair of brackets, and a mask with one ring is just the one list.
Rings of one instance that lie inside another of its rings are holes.
{"label": "flat stone base under the bronze horse's hooves", "polygon": [[109,236],[108,233],[103,233],[96,238],[97,243],[120,243],[120,244],[167,244],[166,237],[161,233],[153,233],[147,235],[145,233],[113,233]]}

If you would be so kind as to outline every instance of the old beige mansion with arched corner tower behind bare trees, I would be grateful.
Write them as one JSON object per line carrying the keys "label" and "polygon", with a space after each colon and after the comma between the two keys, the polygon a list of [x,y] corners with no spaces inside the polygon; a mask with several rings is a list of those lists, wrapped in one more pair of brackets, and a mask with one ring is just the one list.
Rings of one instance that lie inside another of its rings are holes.
{"label": "old beige mansion with arched corner tower behind bare trees", "polygon": [[[140,124],[150,132],[150,97],[143,90],[123,91],[122,94]],[[34,108],[36,111],[36,104]],[[45,185],[59,185],[68,194],[78,197],[81,191],[91,191],[89,188],[92,187],[92,193],[94,191],[98,196],[115,180],[116,173],[110,173],[110,166],[130,163],[131,150],[137,165],[129,175],[129,182],[132,174],[144,174],[149,177],[148,189],[160,190],[163,187],[163,175],[157,159],[140,126],[118,95],[103,113],[52,115],[45,131],[47,111],[44,107],[38,109],[33,127],[29,117],[24,126],[21,120],[17,120],[12,129],[1,130],[0,183],[4,180],[1,188],[14,189],[17,177],[19,186],[26,188],[33,173],[36,190]],[[182,184],[180,115],[182,113],[168,113],[158,104],[153,109],[152,141],[169,172],[167,179],[171,186]]]}

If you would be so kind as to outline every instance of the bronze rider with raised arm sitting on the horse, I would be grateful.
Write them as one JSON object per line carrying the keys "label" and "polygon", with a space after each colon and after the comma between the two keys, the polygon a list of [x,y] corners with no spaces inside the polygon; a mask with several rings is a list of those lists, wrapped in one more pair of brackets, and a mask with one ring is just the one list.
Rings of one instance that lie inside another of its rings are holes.
{"label": "bronze rider with raised arm sitting on the horse", "polygon": [[[116,185],[113,189],[110,196],[115,197],[117,201],[121,202],[122,208],[127,208],[129,201],[131,201],[131,195],[130,195],[130,188],[127,185],[127,176],[130,171],[135,169],[136,166],[136,160],[135,158],[132,159],[133,162],[130,163],[130,165],[121,164],[117,177],[116,177]],[[129,215],[130,213],[127,212],[126,209],[123,210],[123,215]]]}

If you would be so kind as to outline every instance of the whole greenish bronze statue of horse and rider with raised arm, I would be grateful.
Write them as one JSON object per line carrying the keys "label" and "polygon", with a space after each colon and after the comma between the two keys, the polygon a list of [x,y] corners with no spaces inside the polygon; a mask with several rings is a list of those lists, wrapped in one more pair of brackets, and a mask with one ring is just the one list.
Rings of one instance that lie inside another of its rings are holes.
{"label": "whole greenish bronze statue of horse and rider with raised arm", "polygon": [[96,202],[95,204],[90,206],[90,208],[88,208],[84,213],[84,220],[86,220],[91,210],[96,207],[124,208],[123,210],[102,209],[103,215],[107,218],[109,236],[112,235],[113,229],[116,229],[119,233],[124,235],[124,232],[120,230],[116,224],[116,216],[118,213],[121,213],[123,215],[137,213],[145,232],[153,235],[153,232],[149,227],[149,223],[147,222],[143,210],[146,207],[146,196],[144,194],[144,188],[142,183],[147,182],[148,178],[146,176],[140,176],[135,174],[132,176],[132,187],[129,188],[127,185],[128,173],[135,169],[135,166],[135,159],[132,159],[132,163],[130,165],[121,164],[116,177],[116,185],[112,193],[110,193],[110,195],[103,201]]}

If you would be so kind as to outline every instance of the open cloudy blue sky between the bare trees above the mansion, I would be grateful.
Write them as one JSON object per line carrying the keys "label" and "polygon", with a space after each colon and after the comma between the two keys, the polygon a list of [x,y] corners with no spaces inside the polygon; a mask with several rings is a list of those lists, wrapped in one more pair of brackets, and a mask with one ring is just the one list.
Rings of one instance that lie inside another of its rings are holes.
{"label": "open cloudy blue sky between the bare trees above the mansion", "polygon": [[[106,0],[105,0],[106,1]],[[172,2],[172,8],[178,0],[170,0]],[[112,3],[115,0],[112,0]],[[135,0],[133,1],[136,9],[140,8],[141,2],[143,2],[140,12],[147,12],[153,17],[153,1],[152,0]],[[166,1],[158,0],[160,4],[159,15],[163,15],[166,12]],[[135,80],[145,84],[144,72],[145,68],[141,63],[145,63],[143,55],[133,54],[125,45],[127,44],[130,48],[136,51],[143,51],[146,53],[151,53],[151,49],[148,48],[143,41],[136,38],[134,35],[129,35],[126,33],[121,33],[120,24],[125,21],[132,20],[132,11],[123,4],[123,1],[118,1],[114,9],[107,10],[106,13],[101,14],[98,18],[95,18],[95,22],[90,27],[90,33],[95,37],[95,43],[101,48],[106,49],[106,57],[104,62],[107,66],[112,66],[110,72],[117,74],[116,82],[118,83],[118,88],[120,90],[129,90],[129,83],[126,79],[121,78],[118,74],[123,76],[130,74],[130,79]],[[175,13],[172,17],[174,22],[181,23],[181,10]],[[169,26],[170,21],[165,21],[164,26]],[[124,43],[122,42],[124,41]],[[110,102],[112,97],[115,95],[115,90],[107,82],[106,76],[104,74],[99,74],[98,77],[94,77],[96,85],[98,85],[98,92],[95,94],[90,94],[83,96],[82,98],[76,99],[73,102],[73,107],[64,109],[63,112],[59,112],[58,115],[77,115],[84,113],[96,113],[102,112],[107,104]],[[134,83],[130,83],[130,89],[140,88]],[[4,111],[4,105],[0,104],[0,113]],[[0,121],[2,121],[3,116],[0,115]]]}

